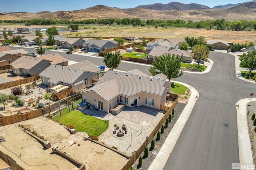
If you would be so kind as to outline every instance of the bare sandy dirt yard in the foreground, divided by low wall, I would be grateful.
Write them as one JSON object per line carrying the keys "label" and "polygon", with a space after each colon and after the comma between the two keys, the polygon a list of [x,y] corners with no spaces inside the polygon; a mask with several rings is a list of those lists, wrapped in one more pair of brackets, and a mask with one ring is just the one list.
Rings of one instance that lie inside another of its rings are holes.
{"label": "bare sandy dirt yard in the foreground, divided by low wall", "polygon": [[[40,143],[18,128],[18,124],[30,128],[31,131],[35,130],[37,134],[49,140],[51,146],[57,145],[59,149],[63,149],[74,158],[84,162],[86,169],[104,169],[106,164],[111,166],[108,167],[110,169],[120,169],[128,161],[112,150],[90,141],[84,141],[86,134],[83,132],[71,135],[58,123],[39,117],[0,127],[1,136],[6,140],[0,144],[0,150],[26,170],[57,170],[58,168],[76,170],[78,168],[61,156],[52,154],[51,148],[44,150],[45,148]],[[97,160],[100,160],[100,163]]]}

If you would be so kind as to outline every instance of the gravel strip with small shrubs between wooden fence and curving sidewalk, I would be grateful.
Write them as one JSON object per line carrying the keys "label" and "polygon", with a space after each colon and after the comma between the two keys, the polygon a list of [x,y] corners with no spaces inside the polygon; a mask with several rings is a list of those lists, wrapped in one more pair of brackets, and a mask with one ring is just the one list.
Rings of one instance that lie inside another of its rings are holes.
{"label": "gravel strip with small shrubs between wooden fence and curving sidewalk", "polygon": [[[176,121],[180,117],[180,114],[182,113],[183,109],[185,108],[187,103],[177,103],[177,105],[174,107],[175,110],[175,115],[172,118],[172,121],[169,123],[169,126],[164,129],[164,133],[161,134],[160,140],[156,141],[155,143],[155,148],[154,150],[151,150],[151,142],[148,144],[148,148],[150,149],[149,151],[149,156],[148,158],[144,158],[144,152],[142,152],[142,166],[139,166],[139,159],[133,164],[133,168],[135,169],[140,169],[140,170],[148,170],[149,166],[153,162],[153,160],[156,158],[156,155],[158,154],[159,150],[161,149],[162,145],[164,144],[164,141],[166,140],[167,136],[172,130],[172,127],[175,125]],[[161,129],[160,129],[161,130]],[[157,135],[157,134],[156,134]],[[154,136],[154,139],[156,140],[156,135]]]}

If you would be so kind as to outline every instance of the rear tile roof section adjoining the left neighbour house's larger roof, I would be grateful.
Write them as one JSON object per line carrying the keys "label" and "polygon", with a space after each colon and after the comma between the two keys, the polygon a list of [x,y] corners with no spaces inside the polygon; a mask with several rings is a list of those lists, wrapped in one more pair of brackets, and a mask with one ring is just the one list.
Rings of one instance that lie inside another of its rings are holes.
{"label": "rear tile roof section adjoining the left neighbour house's larger roof", "polygon": [[90,73],[100,72],[100,69],[88,60],[80,61],[75,64],[71,64],[68,67],[73,68],[73,69],[84,70],[84,71],[90,72]]}

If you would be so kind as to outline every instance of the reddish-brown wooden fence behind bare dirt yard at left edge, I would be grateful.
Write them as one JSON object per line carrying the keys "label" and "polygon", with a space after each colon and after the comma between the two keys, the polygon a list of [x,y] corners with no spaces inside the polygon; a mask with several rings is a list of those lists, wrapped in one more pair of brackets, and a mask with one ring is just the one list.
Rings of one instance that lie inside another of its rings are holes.
{"label": "reddish-brown wooden fence behind bare dirt yard at left edge", "polygon": [[10,124],[17,123],[17,122],[20,122],[20,121],[33,119],[35,117],[39,117],[39,116],[42,116],[42,115],[43,115],[42,110],[37,109],[35,111],[29,111],[29,112],[22,113],[22,114],[1,117],[0,118],[0,126],[10,125]]}

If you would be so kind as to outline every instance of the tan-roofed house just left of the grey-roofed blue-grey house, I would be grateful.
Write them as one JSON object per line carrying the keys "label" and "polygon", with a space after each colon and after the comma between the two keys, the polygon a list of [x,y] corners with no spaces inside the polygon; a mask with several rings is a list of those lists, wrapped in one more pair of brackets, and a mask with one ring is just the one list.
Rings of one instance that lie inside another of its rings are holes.
{"label": "tan-roofed house just left of the grey-roofed blue-grey house", "polygon": [[62,38],[58,40],[58,45],[62,46],[63,48],[70,48],[70,47],[77,47],[82,46],[85,40],[81,38]]}

